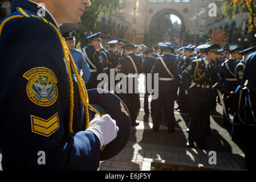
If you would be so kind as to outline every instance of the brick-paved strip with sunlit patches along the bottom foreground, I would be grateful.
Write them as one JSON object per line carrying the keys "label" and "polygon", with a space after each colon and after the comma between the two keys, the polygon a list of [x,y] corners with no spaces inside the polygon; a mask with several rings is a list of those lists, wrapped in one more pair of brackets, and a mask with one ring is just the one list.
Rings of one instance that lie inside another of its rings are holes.
{"label": "brick-paved strip with sunlit patches along the bottom foreground", "polygon": [[[143,149],[142,149],[143,148]],[[244,156],[217,152],[217,164],[209,164],[209,151],[194,148],[128,142],[119,155],[100,162],[100,171],[151,171],[151,163],[180,164],[222,170],[246,170]]]}

